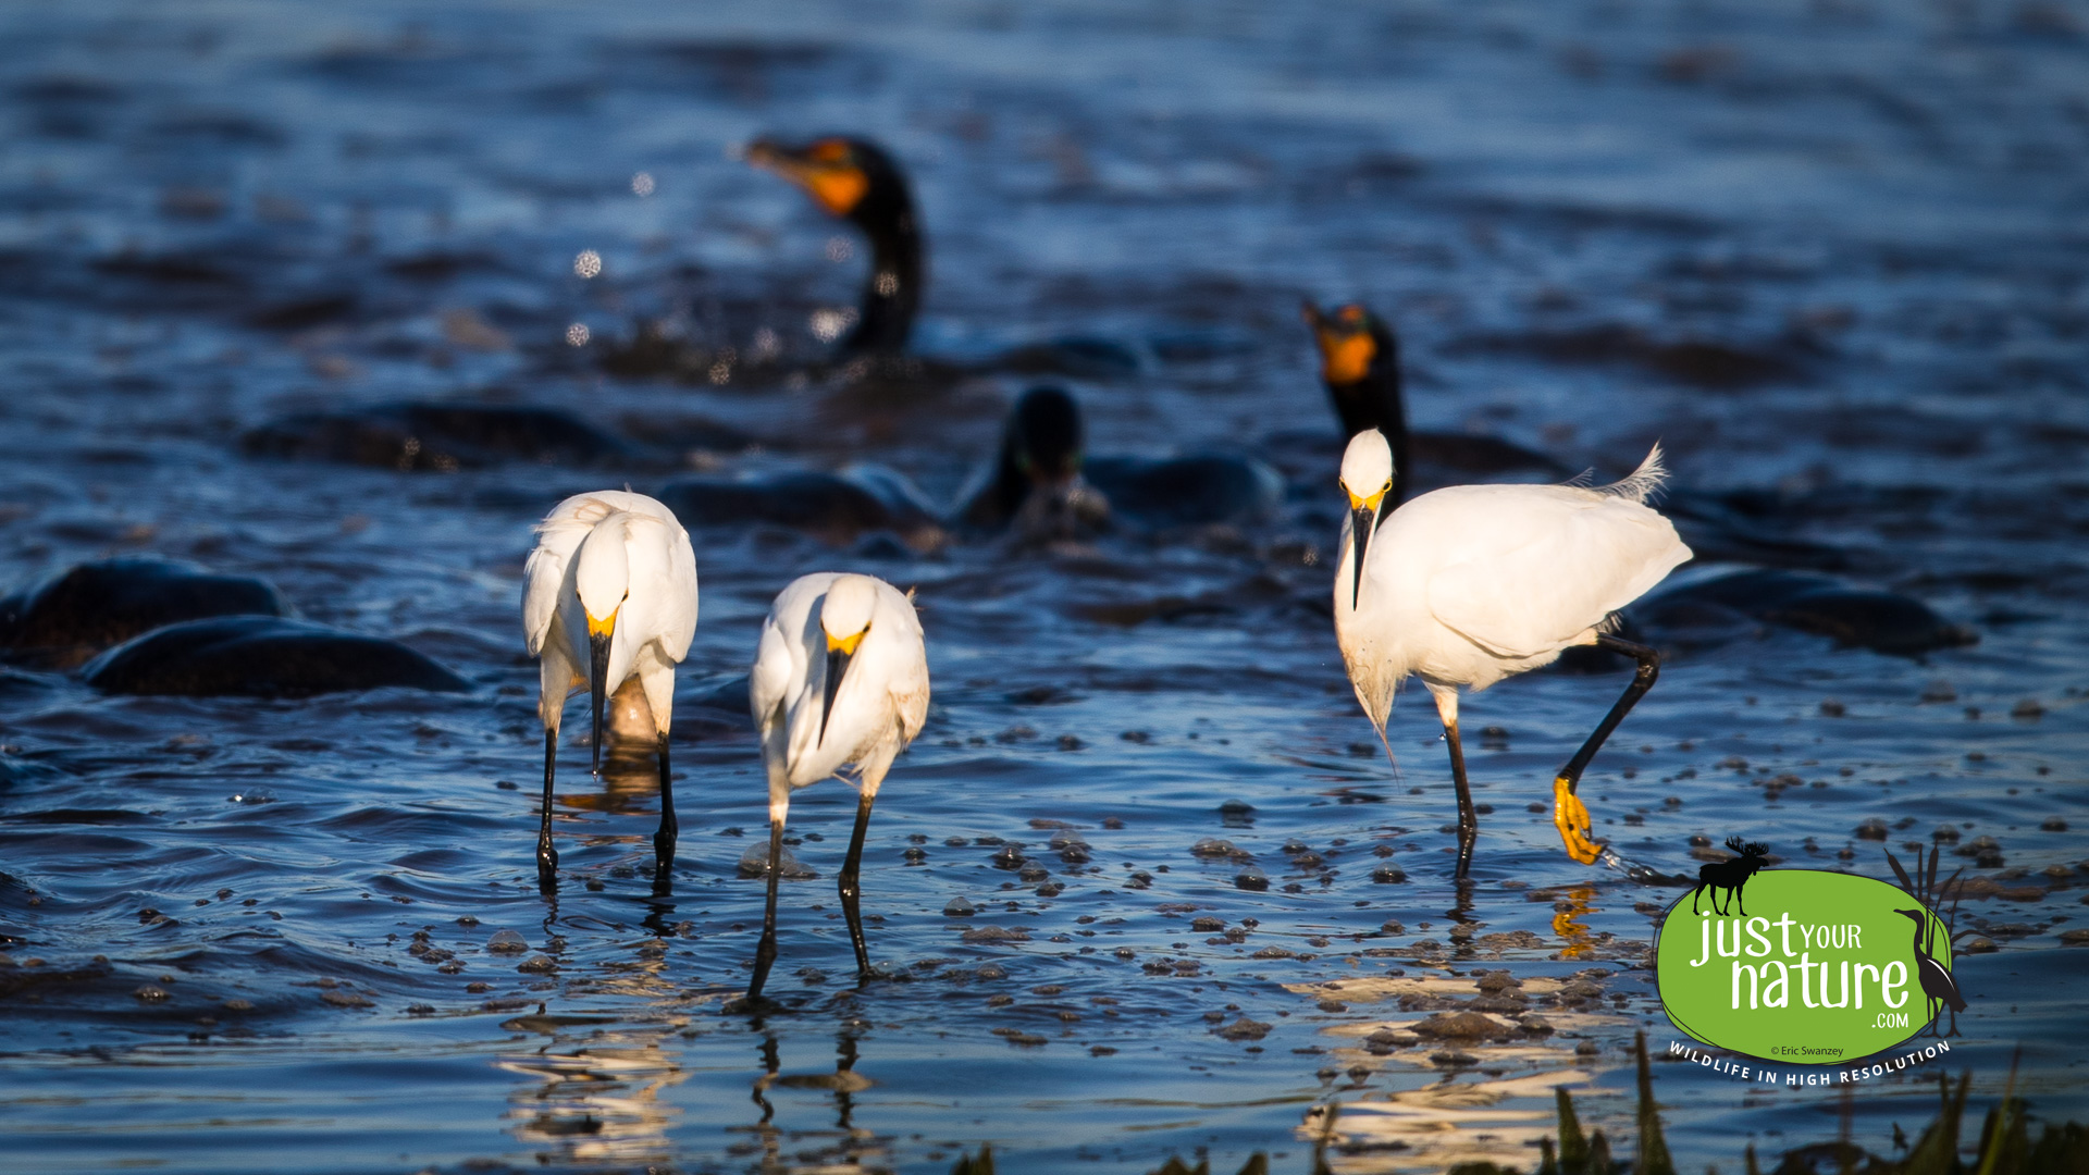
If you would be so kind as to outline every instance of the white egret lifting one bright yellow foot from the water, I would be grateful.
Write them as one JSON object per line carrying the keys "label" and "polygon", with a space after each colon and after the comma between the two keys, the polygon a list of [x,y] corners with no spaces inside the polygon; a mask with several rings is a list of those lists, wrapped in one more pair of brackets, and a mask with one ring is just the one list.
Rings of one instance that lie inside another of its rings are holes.
{"label": "white egret lifting one bright yellow foot from the water", "polygon": [[1458,786],[1456,876],[1471,870],[1479,838],[1458,742],[1458,688],[1485,690],[1550,665],[1575,644],[1638,663],[1632,686],[1552,780],[1552,824],[1567,855],[1583,866],[1600,855],[1575,786],[1661,671],[1659,652],[1611,636],[1604,623],[1690,558],[1675,527],[1646,506],[1665,475],[1654,445],[1615,485],[1452,485],[1393,510],[1385,435],[1370,429],[1349,439],[1341,456],[1349,519],[1335,571],[1335,640],[1381,742],[1400,684],[1414,673],[1429,686]]}

